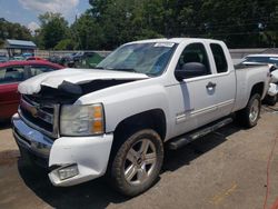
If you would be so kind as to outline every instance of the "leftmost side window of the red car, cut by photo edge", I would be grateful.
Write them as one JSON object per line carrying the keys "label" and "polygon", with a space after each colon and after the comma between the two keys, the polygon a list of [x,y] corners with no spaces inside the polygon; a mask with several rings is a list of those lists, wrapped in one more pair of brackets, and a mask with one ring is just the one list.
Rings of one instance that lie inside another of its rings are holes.
{"label": "leftmost side window of the red car, cut by photo edge", "polygon": [[24,80],[24,67],[8,67],[0,69],[0,84]]}

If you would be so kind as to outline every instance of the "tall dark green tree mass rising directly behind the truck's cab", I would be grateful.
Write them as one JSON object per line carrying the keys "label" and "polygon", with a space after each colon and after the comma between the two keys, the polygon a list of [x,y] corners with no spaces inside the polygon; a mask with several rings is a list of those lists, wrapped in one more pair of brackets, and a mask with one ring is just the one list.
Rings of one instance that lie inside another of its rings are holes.
{"label": "tall dark green tree mass rising directly behind the truck's cab", "polygon": [[277,0],[90,0],[105,48],[156,37],[220,39],[230,48],[278,44]]}

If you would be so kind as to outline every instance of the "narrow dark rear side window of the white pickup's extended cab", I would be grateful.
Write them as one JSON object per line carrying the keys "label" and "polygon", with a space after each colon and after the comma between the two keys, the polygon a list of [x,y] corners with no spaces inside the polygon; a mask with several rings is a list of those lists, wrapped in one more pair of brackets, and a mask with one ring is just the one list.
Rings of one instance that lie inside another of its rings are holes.
{"label": "narrow dark rear side window of the white pickup's extended cab", "polygon": [[215,62],[216,62],[216,70],[218,73],[227,72],[228,71],[228,64],[227,60],[222,50],[222,47],[217,43],[210,43],[210,49],[212,51]]}

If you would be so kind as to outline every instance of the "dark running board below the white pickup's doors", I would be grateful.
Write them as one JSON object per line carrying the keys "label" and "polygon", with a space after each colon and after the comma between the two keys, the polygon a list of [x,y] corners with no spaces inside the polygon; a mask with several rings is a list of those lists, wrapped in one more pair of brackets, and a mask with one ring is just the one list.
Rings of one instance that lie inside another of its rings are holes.
{"label": "dark running board below the white pickup's doors", "polygon": [[197,129],[197,131],[190,132],[190,133],[186,133],[182,135],[178,138],[173,138],[170,142],[169,142],[169,149],[171,150],[176,150],[182,146],[186,146],[187,143],[192,142],[193,140],[203,137],[219,128],[225,127],[226,125],[232,122],[232,118],[226,118],[226,119],[221,119],[221,120],[217,120],[214,123],[207,125],[200,129]]}

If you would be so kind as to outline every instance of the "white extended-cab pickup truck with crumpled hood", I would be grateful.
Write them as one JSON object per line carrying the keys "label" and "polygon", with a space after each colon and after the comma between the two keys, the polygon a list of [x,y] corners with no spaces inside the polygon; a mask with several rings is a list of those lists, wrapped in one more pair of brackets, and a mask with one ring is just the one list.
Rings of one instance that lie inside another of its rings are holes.
{"label": "white extended-cab pickup truck with crumpled hood", "polygon": [[231,122],[259,119],[268,67],[234,69],[226,44],[153,39],[121,46],[96,69],[66,69],[19,86],[13,135],[54,186],[107,175],[126,196],[150,188],[165,149]]}

